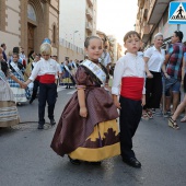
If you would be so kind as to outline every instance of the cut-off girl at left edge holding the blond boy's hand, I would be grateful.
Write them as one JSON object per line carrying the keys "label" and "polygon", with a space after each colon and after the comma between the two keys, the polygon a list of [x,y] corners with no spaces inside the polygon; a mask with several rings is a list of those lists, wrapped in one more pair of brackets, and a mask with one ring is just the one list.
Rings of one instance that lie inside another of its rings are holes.
{"label": "cut-off girl at left edge holding the blond boy's hand", "polygon": [[13,75],[8,63],[2,59],[2,48],[0,47],[0,127],[10,127],[20,121],[14,95],[7,80],[8,77],[19,83],[20,86],[24,86]]}

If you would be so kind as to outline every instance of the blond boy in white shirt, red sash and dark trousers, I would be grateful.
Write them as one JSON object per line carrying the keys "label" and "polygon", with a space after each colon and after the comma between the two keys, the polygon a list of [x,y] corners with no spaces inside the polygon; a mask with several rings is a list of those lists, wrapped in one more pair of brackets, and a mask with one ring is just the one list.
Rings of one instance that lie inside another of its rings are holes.
{"label": "blond boy in white shirt, red sash and dark trousers", "polygon": [[54,109],[57,96],[57,84],[58,79],[57,62],[50,58],[51,45],[48,43],[43,43],[40,45],[42,59],[35,65],[31,77],[25,82],[25,84],[31,83],[39,74],[39,96],[38,96],[38,129],[44,129],[45,125],[45,106],[48,103],[48,118],[50,119],[50,125],[56,125],[54,118]]}

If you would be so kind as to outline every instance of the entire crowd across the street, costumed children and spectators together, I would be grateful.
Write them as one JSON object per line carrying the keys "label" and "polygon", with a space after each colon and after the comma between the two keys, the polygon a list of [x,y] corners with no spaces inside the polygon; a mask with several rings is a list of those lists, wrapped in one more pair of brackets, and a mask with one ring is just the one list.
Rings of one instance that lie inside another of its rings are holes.
{"label": "entire crowd across the street, costumed children and spectators together", "polygon": [[67,154],[75,165],[82,161],[100,165],[102,160],[121,155],[123,162],[141,167],[132,150],[140,119],[153,119],[156,108],[161,107],[163,116],[168,116],[168,126],[179,128],[176,119],[186,106],[186,96],[181,101],[181,86],[186,91],[186,46],[182,39],[183,33],[174,32],[165,51],[163,34],[158,33],[154,45],[141,51],[140,35],[130,31],[124,36],[127,51],[114,69],[111,69],[104,40],[98,36],[85,39],[85,60],[66,58],[61,65],[57,56],[51,55],[49,39],[40,45],[40,54],[31,51],[27,63],[23,48],[15,47],[8,59],[3,44],[0,48],[0,109],[3,113],[0,127],[19,124],[15,103],[20,105],[30,100],[32,104],[38,88],[38,129],[45,126],[46,103],[50,125],[56,125],[57,84],[66,89],[75,85],[77,91],[57,125],[50,144],[53,150],[61,156]]}

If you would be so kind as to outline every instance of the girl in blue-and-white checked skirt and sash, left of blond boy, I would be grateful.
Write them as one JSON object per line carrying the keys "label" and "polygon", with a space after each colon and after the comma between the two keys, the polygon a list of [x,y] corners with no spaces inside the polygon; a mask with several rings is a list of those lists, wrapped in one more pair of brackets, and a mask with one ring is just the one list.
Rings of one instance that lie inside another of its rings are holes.
{"label": "girl in blue-and-white checked skirt and sash, left of blond boy", "polygon": [[[12,73],[22,82],[24,82],[24,67],[21,62],[19,62],[19,54],[13,54],[13,60],[10,62],[10,69]],[[28,98],[31,98],[31,93],[28,88],[26,90],[22,89],[18,82],[9,78],[10,86],[13,91],[15,102],[18,105],[25,103]]]}

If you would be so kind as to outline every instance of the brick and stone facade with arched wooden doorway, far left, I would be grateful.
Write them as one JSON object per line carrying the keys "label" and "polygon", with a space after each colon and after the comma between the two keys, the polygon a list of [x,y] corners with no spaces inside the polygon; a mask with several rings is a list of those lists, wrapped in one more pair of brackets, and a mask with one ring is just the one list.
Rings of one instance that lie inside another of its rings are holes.
{"label": "brick and stone facade with arched wooden doorway, far left", "polygon": [[25,54],[39,53],[45,37],[50,38],[54,55],[59,50],[59,0],[0,0],[0,43],[7,53],[23,47]]}

